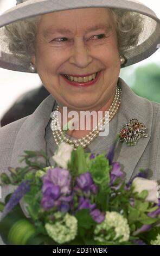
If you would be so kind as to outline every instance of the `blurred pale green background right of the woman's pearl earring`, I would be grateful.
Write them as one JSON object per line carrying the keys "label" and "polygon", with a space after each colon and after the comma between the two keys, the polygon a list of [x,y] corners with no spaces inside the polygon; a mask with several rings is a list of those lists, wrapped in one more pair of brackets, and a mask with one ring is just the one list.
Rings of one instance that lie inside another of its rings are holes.
{"label": "blurred pale green background right of the woman's pearl earring", "polygon": [[160,64],[129,66],[120,70],[120,77],[137,95],[160,103]]}

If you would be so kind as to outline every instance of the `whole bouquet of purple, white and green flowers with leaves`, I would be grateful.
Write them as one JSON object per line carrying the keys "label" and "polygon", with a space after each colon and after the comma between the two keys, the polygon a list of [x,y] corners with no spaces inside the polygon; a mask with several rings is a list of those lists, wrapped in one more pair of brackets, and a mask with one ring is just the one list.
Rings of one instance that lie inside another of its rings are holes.
{"label": "whole bouquet of purple, white and green flowers with leaves", "polygon": [[[0,203],[0,234],[7,245],[160,245],[157,181],[146,170],[126,182],[108,154],[73,150],[61,142],[55,166],[35,161],[40,151],[24,151],[24,168],[9,167],[2,186],[16,186]],[[33,161],[34,159],[34,161]]]}

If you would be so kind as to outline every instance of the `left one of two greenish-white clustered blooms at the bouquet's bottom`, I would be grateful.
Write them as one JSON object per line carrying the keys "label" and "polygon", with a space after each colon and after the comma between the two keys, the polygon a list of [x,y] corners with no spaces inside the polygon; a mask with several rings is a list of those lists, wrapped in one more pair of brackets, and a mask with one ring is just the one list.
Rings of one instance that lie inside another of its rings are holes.
{"label": "left one of two greenish-white clustered blooms at the bouquet's bottom", "polygon": [[45,224],[48,235],[59,244],[74,240],[78,231],[76,218],[68,213],[64,216],[61,212],[56,212],[54,216],[57,219],[62,217],[62,220],[57,220],[55,224]]}

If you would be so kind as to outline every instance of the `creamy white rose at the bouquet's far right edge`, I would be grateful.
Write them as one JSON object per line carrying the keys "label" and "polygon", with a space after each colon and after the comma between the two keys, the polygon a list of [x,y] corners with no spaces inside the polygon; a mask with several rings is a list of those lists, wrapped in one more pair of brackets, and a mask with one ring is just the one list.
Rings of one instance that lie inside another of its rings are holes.
{"label": "creamy white rose at the bouquet's far right edge", "polygon": [[146,197],[146,201],[155,202],[158,204],[157,181],[137,177],[133,180],[132,185],[134,186],[133,191],[135,192],[140,193],[143,190],[147,190],[148,196]]}

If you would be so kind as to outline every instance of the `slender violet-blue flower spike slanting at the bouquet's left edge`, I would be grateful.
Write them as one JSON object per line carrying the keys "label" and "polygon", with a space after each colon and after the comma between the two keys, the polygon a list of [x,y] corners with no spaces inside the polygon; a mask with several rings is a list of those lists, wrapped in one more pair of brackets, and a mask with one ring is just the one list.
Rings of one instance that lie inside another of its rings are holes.
{"label": "slender violet-blue flower spike slanting at the bouquet's left edge", "polygon": [[22,182],[17,189],[12,193],[8,203],[5,205],[2,217],[5,217],[9,212],[20,202],[24,194],[30,191],[30,182],[26,180]]}

